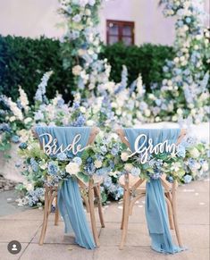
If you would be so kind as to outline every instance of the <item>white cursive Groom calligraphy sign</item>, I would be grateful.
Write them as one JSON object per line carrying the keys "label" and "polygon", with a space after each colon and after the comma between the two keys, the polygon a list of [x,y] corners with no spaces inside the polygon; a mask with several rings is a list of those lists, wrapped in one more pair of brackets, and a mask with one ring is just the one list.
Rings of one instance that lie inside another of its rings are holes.
{"label": "white cursive Groom calligraphy sign", "polygon": [[[148,145],[146,146],[146,144]],[[141,154],[142,155],[141,163],[145,164],[147,163],[148,155],[150,154],[158,155],[164,152],[175,154],[176,147],[177,146],[175,144],[170,145],[168,140],[165,140],[163,143],[158,143],[154,146],[152,138],[148,138],[147,141],[147,135],[141,134],[135,140],[134,143],[135,152],[129,155],[129,157],[136,154]]]}

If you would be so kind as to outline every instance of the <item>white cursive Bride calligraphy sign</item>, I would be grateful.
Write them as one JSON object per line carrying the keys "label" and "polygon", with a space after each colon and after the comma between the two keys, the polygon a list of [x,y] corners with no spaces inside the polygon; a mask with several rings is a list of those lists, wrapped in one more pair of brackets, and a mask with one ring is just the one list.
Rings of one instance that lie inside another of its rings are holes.
{"label": "white cursive Bride calligraphy sign", "polygon": [[71,151],[73,155],[77,155],[78,153],[82,152],[84,149],[87,148],[87,147],[81,147],[81,145],[79,144],[80,138],[81,138],[80,134],[77,134],[73,138],[72,143],[68,144],[67,147],[63,147],[63,144],[61,144],[58,147],[57,138],[53,138],[52,135],[48,134],[48,133],[39,135],[39,138],[44,137],[44,136],[48,137],[47,142],[46,142],[45,138],[43,138],[43,141],[42,141],[42,147],[43,147],[44,153],[46,155],[56,155],[58,153],[64,153],[64,152],[69,152],[69,151]]}

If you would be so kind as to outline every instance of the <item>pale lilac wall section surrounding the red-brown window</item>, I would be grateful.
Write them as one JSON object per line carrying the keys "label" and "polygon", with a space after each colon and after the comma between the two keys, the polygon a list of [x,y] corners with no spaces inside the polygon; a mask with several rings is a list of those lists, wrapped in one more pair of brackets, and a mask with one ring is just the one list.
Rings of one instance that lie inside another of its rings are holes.
{"label": "pale lilac wall section surrounding the red-brown window", "polygon": [[101,31],[105,40],[105,21],[135,21],[135,43],[172,45],[174,19],[164,18],[158,0],[110,0],[101,12]]}

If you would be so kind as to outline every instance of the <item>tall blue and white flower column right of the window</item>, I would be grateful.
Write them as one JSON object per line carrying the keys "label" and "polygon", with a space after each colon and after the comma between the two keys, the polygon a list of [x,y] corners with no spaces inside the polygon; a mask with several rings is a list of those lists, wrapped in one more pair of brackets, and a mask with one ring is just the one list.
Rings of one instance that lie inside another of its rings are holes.
{"label": "tall blue and white flower column right of the window", "polygon": [[161,0],[160,4],[164,6],[164,16],[177,18],[173,45],[176,57],[166,61],[162,87],[154,89],[148,104],[153,106],[151,112],[158,114],[155,122],[177,122],[188,116],[195,123],[204,122],[209,114],[209,73],[204,70],[204,61],[210,63],[204,1]]}

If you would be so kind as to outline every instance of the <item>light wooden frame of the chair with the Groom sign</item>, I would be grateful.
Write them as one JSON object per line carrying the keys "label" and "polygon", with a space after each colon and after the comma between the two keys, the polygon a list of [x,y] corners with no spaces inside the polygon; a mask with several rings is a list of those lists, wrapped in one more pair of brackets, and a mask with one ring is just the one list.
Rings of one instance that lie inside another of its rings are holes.
{"label": "light wooden frame of the chair with the Groom sign", "polygon": [[[116,133],[121,138],[122,142],[130,148],[130,143],[124,136],[122,129],[116,130]],[[181,130],[181,134],[177,140],[177,145],[181,142],[181,139],[187,134],[186,130]],[[177,209],[176,209],[176,190],[178,187],[177,180],[174,180],[173,183],[169,183],[165,180],[165,174],[161,177],[162,185],[164,187],[164,197],[168,208],[168,216],[171,230],[175,230],[176,238],[180,247],[181,235],[179,231],[178,221],[177,221]],[[129,223],[129,215],[132,214],[133,205],[139,200],[140,197],[146,195],[146,181],[141,180],[139,177],[134,177],[130,173],[126,172],[121,176],[119,180],[120,185],[124,189],[123,192],[123,210],[122,210],[122,239],[120,244],[120,249],[123,248]]]}

